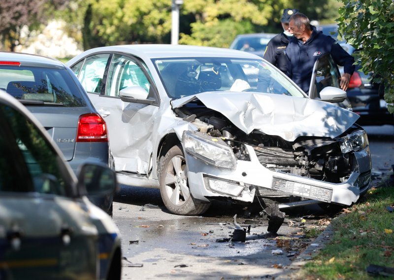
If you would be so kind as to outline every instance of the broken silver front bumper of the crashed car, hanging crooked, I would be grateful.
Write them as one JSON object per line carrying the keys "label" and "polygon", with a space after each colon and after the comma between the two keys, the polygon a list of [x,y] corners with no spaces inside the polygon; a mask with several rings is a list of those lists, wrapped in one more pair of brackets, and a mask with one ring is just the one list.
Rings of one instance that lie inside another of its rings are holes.
{"label": "broken silver front bumper of the crashed car, hanging crooked", "polygon": [[330,183],[280,171],[271,171],[260,164],[253,147],[245,145],[250,161],[237,160],[233,170],[216,168],[188,154],[188,180],[196,199],[228,197],[252,202],[257,189],[267,196],[294,195],[328,203],[351,205],[368,189],[371,171],[369,146],[354,152],[355,168],[343,183]]}

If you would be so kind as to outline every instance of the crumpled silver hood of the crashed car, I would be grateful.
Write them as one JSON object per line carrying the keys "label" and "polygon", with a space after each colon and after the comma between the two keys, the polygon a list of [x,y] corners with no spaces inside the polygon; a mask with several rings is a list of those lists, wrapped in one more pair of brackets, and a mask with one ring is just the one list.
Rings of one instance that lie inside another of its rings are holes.
{"label": "crumpled silver hood of the crashed car", "polygon": [[253,92],[204,92],[173,100],[171,105],[179,108],[196,99],[222,113],[246,134],[257,129],[288,141],[300,136],[335,138],[359,118],[322,101]]}

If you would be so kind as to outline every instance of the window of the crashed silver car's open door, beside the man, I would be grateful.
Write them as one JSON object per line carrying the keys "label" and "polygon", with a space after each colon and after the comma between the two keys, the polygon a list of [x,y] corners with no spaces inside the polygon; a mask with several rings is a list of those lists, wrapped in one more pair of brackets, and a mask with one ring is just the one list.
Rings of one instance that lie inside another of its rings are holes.
{"label": "window of the crashed silver car's open door, beside the man", "polygon": [[328,86],[339,88],[339,79],[339,70],[331,56],[328,53],[321,56],[314,66],[309,97],[320,98],[320,92]]}

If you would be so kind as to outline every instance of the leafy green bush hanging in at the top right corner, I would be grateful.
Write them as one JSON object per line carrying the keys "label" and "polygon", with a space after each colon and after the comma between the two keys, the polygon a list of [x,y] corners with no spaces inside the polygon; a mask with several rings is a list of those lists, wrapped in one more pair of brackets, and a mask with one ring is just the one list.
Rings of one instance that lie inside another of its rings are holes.
{"label": "leafy green bush hanging in at the top right corner", "polygon": [[374,72],[385,85],[384,98],[394,112],[394,2],[392,0],[342,0],[339,34],[356,48],[362,70]]}

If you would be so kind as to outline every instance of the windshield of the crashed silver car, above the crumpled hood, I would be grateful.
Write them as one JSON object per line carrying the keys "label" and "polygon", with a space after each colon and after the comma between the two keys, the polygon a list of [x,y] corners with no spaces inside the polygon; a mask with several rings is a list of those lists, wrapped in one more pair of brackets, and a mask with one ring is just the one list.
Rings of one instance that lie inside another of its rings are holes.
{"label": "windshield of the crashed silver car, above the crumpled hood", "polygon": [[262,59],[220,57],[153,60],[169,97],[173,99],[210,91],[253,91],[304,95],[279,70]]}

